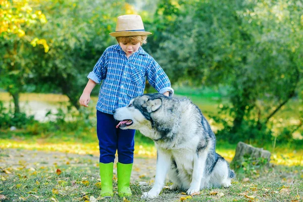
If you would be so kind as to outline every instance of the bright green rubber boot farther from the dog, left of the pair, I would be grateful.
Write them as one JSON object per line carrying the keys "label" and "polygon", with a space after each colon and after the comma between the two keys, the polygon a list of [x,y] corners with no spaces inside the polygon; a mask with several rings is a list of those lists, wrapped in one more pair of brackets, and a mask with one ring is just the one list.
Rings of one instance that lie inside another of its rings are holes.
{"label": "bright green rubber boot farther from the dog, left of the pair", "polygon": [[99,163],[101,192],[100,195],[105,198],[113,196],[113,167],[114,163],[103,164]]}

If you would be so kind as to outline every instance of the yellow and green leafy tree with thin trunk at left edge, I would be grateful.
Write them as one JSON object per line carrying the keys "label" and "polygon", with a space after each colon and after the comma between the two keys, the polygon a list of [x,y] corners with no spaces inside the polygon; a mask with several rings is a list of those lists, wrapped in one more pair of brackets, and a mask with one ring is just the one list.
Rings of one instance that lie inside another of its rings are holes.
{"label": "yellow and green leafy tree with thin trunk at left edge", "polygon": [[[33,10],[38,2],[33,5],[27,0],[0,2],[0,85],[13,96],[15,115],[20,112],[19,94],[33,67],[33,56],[26,50],[35,37],[31,26],[46,23],[44,14]],[[35,43],[42,44],[44,51],[48,51],[45,39],[35,38]]]}

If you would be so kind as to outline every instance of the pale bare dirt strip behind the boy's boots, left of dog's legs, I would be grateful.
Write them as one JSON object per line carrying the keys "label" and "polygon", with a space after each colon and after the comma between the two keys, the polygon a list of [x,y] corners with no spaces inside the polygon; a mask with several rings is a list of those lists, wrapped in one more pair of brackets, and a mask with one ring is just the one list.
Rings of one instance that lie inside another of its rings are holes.
{"label": "pale bare dirt strip behind the boy's boots, left of dog's legs", "polygon": [[[118,161],[116,157],[115,163]],[[154,182],[156,174],[156,159],[134,158],[131,178],[133,181]],[[26,149],[1,149],[0,148],[0,169],[20,168],[36,169],[41,166],[70,165],[75,167],[98,167],[99,157],[92,155],[77,155],[60,153],[56,151],[46,152]],[[117,166],[114,164],[114,174],[117,173]],[[4,175],[2,172],[0,175]]]}

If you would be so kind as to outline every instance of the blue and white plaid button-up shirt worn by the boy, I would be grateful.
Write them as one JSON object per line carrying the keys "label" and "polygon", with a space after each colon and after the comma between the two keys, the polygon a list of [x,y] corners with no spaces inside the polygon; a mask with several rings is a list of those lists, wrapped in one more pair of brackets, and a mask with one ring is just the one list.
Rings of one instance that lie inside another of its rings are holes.
{"label": "blue and white plaid button-up shirt worn by the boy", "polygon": [[154,60],[140,46],[128,59],[119,44],[106,48],[87,78],[100,86],[96,109],[113,114],[113,110],[125,107],[131,98],[141,95],[145,88],[145,76],[159,93],[173,95],[169,78]]}

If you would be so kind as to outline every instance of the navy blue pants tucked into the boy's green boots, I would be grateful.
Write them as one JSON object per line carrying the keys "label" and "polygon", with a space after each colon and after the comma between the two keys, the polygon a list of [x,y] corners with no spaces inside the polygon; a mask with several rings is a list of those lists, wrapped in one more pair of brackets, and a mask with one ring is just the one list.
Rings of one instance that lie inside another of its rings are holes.
{"label": "navy blue pants tucked into the boy's green boots", "polygon": [[111,114],[97,110],[97,136],[100,149],[100,163],[114,162],[116,150],[118,161],[122,164],[132,164],[134,160],[135,131],[116,128],[119,121]]}

